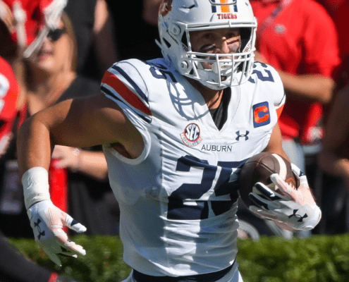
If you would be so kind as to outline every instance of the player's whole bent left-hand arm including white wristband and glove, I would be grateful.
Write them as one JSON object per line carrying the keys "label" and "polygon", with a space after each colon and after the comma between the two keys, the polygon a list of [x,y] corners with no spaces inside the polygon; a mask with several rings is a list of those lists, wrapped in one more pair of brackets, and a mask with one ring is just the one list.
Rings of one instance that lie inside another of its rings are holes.
{"label": "player's whole bent left-hand arm including white wristband and glove", "polygon": [[86,228],[50,200],[47,170],[51,149],[56,144],[90,147],[115,142],[121,143],[132,157],[142,151],[140,133],[103,94],[56,104],[27,119],[20,128],[17,152],[25,207],[35,240],[56,264],[61,264],[58,254],[85,255],[80,245],[68,239],[63,227],[77,232]]}

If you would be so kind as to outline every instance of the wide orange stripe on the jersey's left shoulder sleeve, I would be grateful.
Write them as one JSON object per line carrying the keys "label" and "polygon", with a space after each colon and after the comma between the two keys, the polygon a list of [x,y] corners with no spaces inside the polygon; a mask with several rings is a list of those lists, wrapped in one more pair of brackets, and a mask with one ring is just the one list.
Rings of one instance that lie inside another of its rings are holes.
{"label": "wide orange stripe on the jersey's left shoulder sleeve", "polygon": [[147,114],[148,116],[152,116],[152,111],[150,111],[142,100],[135,93],[129,90],[128,87],[123,84],[123,82],[113,73],[106,71],[102,79],[102,83],[112,87],[121,97],[123,97],[123,99],[125,99],[126,102],[128,102],[128,104],[133,106],[135,109],[142,111],[142,113]]}

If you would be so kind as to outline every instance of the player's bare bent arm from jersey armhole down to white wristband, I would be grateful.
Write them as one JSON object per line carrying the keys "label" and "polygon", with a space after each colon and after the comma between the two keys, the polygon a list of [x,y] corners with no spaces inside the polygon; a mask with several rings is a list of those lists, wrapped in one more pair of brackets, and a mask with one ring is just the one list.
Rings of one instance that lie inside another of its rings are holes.
{"label": "player's bare bent arm from jersey armhole down to white wristband", "polygon": [[28,118],[18,135],[20,174],[29,168],[48,169],[54,145],[91,147],[120,143],[132,156],[142,152],[142,137],[114,102],[99,94],[69,99]]}

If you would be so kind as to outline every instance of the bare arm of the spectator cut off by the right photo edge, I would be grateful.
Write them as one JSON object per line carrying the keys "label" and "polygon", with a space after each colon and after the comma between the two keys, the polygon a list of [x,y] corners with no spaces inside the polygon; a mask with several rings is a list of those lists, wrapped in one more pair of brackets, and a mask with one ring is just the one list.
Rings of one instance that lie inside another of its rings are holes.
{"label": "bare arm of the spectator cut off by the right photo edge", "polygon": [[[349,179],[349,159],[342,157],[349,128],[349,85],[338,93],[325,127],[319,166],[333,176]],[[348,156],[348,155],[347,155]]]}

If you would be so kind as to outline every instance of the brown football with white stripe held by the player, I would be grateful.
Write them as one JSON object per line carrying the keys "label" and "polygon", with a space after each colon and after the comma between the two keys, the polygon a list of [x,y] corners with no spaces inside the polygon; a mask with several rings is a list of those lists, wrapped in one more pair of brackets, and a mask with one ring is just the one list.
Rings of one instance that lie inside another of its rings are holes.
{"label": "brown football with white stripe held by the player", "polygon": [[298,187],[290,162],[278,154],[262,152],[251,157],[243,164],[240,171],[239,192],[247,207],[250,207],[252,204],[250,197],[248,197],[250,192],[259,193],[254,188],[257,182],[267,185],[271,190],[280,192],[270,180],[270,176],[273,173],[278,173],[287,183],[293,185],[293,187]]}

